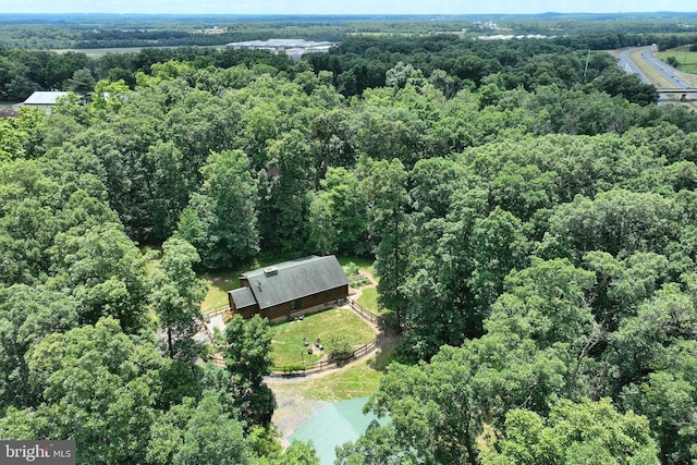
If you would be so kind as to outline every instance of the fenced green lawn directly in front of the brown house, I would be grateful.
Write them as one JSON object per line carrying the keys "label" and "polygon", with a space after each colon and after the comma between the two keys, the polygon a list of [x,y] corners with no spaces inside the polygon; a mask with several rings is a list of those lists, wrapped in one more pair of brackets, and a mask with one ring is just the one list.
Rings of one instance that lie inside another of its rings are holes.
{"label": "fenced green lawn directly in front of the brown house", "polygon": [[[341,332],[353,345],[364,345],[375,340],[376,333],[360,317],[345,308],[330,308],[307,315],[302,321],[280,323],[272,328],[271,359],[276,367],[313,363],[325,356],[315,350],[307,354],[303,345],[306,338],[314,345],[317,338],[327,341],[331,334]],[[301,352],[303,355],[301,356]]]}

